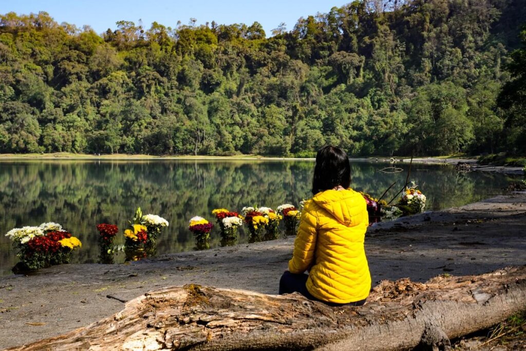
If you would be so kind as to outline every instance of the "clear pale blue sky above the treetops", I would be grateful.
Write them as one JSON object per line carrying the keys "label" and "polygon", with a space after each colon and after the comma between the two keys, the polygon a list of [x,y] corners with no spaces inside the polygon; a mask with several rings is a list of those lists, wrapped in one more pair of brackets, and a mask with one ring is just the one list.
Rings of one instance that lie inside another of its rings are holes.
{"label": "clear pale blue sky above the treetops", "polygon": [[217,24],[261,23],[267,36],[280,23],[287,30],[294,28],[300,17],[327,13],[333,6],[341,7],[351,0],[0,0],[0,14],[16,12],[18,15],[45,11],[59,24],[67,22],[82,28],[89,25],[101,34],[106,29],[116,29],[117,21],[143,22],[145,29],[152,22],[167,27],[215,21]]}

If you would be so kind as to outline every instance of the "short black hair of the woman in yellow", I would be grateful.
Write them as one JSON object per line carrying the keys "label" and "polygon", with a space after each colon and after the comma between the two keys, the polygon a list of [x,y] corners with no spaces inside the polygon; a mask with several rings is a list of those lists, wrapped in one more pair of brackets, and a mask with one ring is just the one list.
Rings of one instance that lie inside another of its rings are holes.
{"label": "short black hair of the woman in yellow", "polygon": [[345,151],[336,146],[323,146],[316,154],[312,179],[312,195],[341,185],[351,184],[351,166]]}

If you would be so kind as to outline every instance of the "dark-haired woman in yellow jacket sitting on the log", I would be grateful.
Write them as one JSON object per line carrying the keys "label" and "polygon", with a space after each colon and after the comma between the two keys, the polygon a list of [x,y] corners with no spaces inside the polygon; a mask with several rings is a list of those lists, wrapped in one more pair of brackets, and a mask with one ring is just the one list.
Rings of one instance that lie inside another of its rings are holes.
{"label": "dark-haired woman in yellow jacket sitting on the log", "polygon": [[349,188],[350,180],[347,154],[338,147],[322,147],[314,167],[314,196],[301,212],[279,294],[299,292],[331,306],[365,303],[371,289],[363,248],[369,219],[365,199]]}

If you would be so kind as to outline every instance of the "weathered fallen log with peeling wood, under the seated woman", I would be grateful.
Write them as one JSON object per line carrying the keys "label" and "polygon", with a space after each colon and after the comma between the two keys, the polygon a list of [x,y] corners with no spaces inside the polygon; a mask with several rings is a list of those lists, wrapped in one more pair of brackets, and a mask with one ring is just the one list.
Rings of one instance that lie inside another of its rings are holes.
{"label": "weathered fallen log with peeling wood, under the seated woman", "polygon": [[112,317],[9,350],[446,350],[449,339],[524,308],[526,266],[426,283],[385,280],[360,307],[185,285],[147,293]]}

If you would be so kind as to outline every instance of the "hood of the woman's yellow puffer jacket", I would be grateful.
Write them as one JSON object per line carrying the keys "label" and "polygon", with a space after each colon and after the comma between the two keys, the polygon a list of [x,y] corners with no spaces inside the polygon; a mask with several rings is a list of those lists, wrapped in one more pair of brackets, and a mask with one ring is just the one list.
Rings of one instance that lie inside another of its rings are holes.
{"label": "hood of the woman's yellow puffer jacket", "polygon": [[338,222],[350,227],[360,223],[367,204],[360,193],[352,189],[325,190],[312,198],[313,202],[326,209]]}

